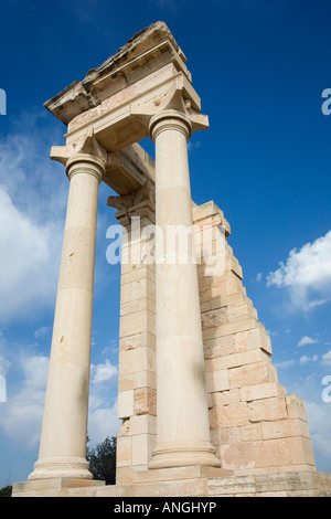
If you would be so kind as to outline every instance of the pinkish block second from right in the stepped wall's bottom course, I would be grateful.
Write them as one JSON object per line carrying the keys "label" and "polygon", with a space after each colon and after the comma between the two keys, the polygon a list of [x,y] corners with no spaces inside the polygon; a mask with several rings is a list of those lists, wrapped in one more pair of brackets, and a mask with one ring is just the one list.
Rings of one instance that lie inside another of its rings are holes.
{"label": "pinkish block second from right in the stepped wall's bottom course", "polygon": [[290,439],[267,439],[256,445],[256,467],[291,465]]}

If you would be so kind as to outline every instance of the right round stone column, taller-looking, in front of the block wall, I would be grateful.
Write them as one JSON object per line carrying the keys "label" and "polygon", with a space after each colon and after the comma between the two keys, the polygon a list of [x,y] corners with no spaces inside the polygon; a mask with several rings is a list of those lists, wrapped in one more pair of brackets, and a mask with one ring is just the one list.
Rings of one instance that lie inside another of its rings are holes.
{"label": "right round stone column, taller-looking, in front of the block wall", "polygon": [[[166,237],[169,225],[193,224],[186,146],[191,123],[184,113],[166,109],[151,118],[150,134],[156,142],[157,233]],[[196,265],[190,257],[173,262],[172,253],[166,244],[162,255],[158,237],[158,417],[149,467],[220,467],[210,442]]]}

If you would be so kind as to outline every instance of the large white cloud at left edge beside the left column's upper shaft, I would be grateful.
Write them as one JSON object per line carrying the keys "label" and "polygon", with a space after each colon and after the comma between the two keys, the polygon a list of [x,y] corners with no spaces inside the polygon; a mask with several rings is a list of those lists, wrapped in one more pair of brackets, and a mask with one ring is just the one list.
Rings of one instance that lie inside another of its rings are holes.
{"label": "large white cloud at left edge beside the left column's upper shaft", "polygon": [[[19,211],[0,187],[0,319],[54,304],[61,252],[58,229]],[[32,308],[33,307],[33,308]]]}

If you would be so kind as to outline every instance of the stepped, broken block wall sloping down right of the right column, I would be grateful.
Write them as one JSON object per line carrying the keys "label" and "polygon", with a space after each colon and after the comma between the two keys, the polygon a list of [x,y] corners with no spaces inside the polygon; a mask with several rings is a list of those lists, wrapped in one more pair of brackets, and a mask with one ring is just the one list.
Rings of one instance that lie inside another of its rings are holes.
{"label": "stepped, broken block wall sloping down right of the right column", "polygon": [[204,243],[211,252],[224,234],[221,268],[199,266],[211,435],[222,467],[236,474],[314,469],[303,402],[278,382],[269,337],[227,244],[229,226],[213,202],[193,214],[197,234],[203,226],[214,231]]}

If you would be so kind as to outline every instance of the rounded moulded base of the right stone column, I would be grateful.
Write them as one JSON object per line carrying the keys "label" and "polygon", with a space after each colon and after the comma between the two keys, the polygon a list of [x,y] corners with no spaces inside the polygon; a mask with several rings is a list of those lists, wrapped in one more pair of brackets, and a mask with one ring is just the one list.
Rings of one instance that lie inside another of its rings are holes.
{"label": "rounded moulded base of the right stone column", "polygon": [[167,442],[157,445],[148,468],[174,468],[188,466],[221,467],[215,448],[207,442],[196,444]]}

